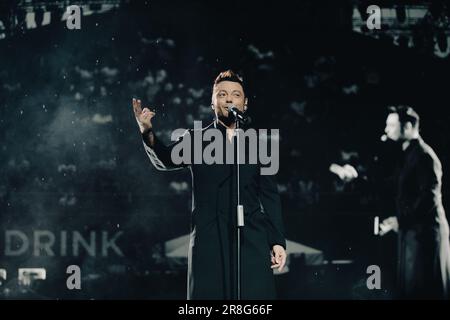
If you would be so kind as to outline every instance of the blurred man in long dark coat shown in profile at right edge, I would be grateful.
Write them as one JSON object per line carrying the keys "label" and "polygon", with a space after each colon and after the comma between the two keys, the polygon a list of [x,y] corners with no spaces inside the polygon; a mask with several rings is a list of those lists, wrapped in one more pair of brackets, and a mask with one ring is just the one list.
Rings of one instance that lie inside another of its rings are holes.
{"label": "blurred man in long dark coat shown in profile at right edge", "polygon": [[442,166],[419,134],[419,115],[407,106],[391,108],[385,137],[404,153],[397,183],[397,216],[381,234],[398,231],[397,283],[402,299],[448,299],[449,226],[441,195]]}

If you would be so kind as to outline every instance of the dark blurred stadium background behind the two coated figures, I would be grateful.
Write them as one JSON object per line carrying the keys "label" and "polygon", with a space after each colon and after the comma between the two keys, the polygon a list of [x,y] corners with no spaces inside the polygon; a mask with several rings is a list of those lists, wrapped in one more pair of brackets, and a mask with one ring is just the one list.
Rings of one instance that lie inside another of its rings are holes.
{"label": "dark blurred stadium background behind the two coated figures", "polygon": [[[433,34],[408,47],[355,32],[354,1],[117,3],[83,15],[81,30],[52,21],[0,40],[0,296],[184,299],[186,265],[164,243],[189,232],[190,175],[151,166],[131,99],[157,110],[168,142],[212,120],[212,80],[232,68],[254,122],[280,129],[287,238],[323,253],[313,266],[292,257],[276,276],[280,298],[392,298],[395,235],[373,235],[374,217],[395,213],[385,179],[398,150],[380,142],[388,105],[421,115],[448,208],[450,68],[426,45]],[[333,162],[358,179],[340,181]],[[82,290],[66,288],[71,264]],[[382,290],[366,287],[372,264]],[[24,285],[19,268],[46,279]]]}

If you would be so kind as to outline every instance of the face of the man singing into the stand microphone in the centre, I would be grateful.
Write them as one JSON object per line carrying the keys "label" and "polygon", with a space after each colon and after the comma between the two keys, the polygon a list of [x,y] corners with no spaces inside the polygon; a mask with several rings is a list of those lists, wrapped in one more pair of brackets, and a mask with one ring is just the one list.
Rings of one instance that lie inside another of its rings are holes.
{"label": "face of the man singing into the stand microphone in the centre", "polygon": [[222,81],[213,88],[212,104],[218,117],[228,117],[227,107],[229,106],[235,106],[239,110],[244,111],[246,103],[247,99],[240,83]]}

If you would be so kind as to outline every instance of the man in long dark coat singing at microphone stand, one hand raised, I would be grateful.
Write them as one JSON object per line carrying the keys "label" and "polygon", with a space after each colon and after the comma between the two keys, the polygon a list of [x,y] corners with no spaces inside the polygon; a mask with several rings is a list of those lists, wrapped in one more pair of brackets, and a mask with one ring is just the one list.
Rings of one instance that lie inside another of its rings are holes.
{"label": "man in long dark coat singing at microphone stand, one hand raised", "polygon": [[[228,70],[213,85],[214,122],[201,129],[203,134],[219,129],[228,144],[235,144],[235,122],[229,108],[247,110],[242,78]],[[141,109],[133,99],[144,148],[158,170],[189,167],[192,174],[192,216],[188,262],[188,299],[236,299],[236,165],[175,164],[171,151],[187,134],[165,146],[153,132],[155,113]],[[192,133],[189,130],[188,133]],[[207,146],[204,142],[203,148]],[[286,242],[281,204],[274,177],[261,175],[259,165],[240,165],[240,195],[244,206],[241,236],[241,298],[276,298],[273,270],[286,262]]]}

